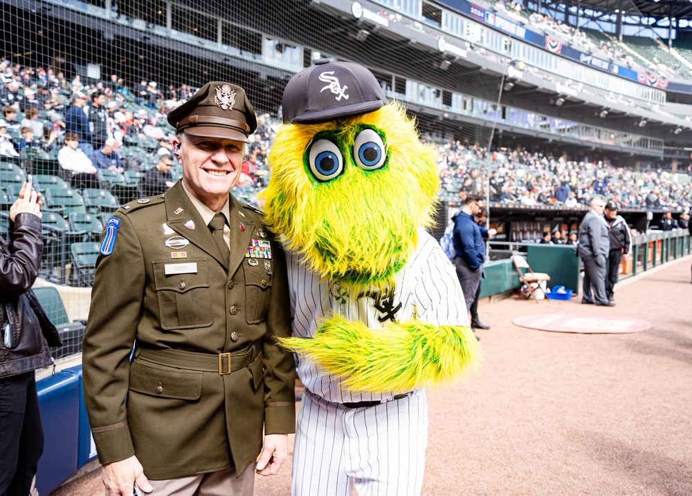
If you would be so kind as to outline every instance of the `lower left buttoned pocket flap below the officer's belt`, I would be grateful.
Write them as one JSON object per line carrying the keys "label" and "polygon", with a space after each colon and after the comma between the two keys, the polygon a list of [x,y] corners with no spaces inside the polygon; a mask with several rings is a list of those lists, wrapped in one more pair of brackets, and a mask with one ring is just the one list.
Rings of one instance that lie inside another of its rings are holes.
{"label": "lower left buttoned pocket flap below the officer's belt", "polygon": [[134,359],[130,365],[129,388],[150,396],[199,399],[202,372],[163,367]]}

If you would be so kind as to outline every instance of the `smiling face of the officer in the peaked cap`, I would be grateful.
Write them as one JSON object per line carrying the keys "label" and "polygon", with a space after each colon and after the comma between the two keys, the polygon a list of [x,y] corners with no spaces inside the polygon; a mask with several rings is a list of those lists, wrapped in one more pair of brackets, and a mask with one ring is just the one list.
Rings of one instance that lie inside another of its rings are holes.
{"label": "smiling face of the officer in the peaked cap", "polygon": [[214,211],[224,206],[228,191],[238,182],[243,146],[226,138],[192,135],[185,135],[180,145],[185,187]]}

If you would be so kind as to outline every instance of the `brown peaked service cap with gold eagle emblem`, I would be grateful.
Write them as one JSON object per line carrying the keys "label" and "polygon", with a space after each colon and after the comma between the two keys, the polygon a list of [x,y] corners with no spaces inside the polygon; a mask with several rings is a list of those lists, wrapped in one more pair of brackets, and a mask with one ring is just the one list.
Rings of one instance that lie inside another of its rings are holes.
{"label": "brown peaked service cap with gold eagle emblem", "polygon": [[257,116],[245,90],[224,82],[210,82],[187,102],[168,113],[176,132],[193,136],[219,137],[249,143],[257,129]]}

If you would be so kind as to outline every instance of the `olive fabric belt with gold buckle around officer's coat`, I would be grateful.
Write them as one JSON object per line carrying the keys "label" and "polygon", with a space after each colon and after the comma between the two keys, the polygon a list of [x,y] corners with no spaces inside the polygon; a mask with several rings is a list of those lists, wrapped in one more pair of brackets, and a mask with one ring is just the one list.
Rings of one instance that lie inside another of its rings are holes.
{"label": "olive fabric belt with gold buckle around officer's coat", "polygon": [[259,352],[255,352],[255,345],[249,345],[236,352],[219,354],[140,348],[135,356],[158,365],[226,375],[253,363]]}

